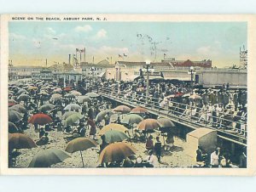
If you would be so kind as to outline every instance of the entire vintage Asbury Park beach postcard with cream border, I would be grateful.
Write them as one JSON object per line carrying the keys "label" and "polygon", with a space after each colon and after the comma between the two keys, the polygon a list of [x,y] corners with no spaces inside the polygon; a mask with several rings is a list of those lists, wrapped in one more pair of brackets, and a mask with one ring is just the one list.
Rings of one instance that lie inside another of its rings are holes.
{"label": "entire vintage Asbury Park beach postcard with cream border", "polygon": [[1,15],[1,174],[255,174],[253,14]]}

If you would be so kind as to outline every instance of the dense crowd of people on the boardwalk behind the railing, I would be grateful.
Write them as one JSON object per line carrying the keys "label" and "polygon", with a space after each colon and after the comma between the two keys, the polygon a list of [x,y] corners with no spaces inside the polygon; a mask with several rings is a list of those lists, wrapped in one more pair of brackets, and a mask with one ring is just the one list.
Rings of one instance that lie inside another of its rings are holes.
{"label": "dense crowd of people on the boardwalk behind the railing", "polygon": [[172,115],[247,136],[247,90],[230,90],[229,83],[217,89],[191,88],[189,83],[184,82],[150,82],[148,98],[144,80],[98,82],[96,87],[137,104],[147,103],[150,107],[168,110]]}

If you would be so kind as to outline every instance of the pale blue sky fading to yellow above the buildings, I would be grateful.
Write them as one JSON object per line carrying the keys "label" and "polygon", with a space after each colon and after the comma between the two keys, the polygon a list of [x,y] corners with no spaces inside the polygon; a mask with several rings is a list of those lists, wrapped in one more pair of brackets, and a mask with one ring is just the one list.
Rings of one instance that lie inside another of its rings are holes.
{"label": "pale blue sky fading to yellow above the buildings", "polygon": [[[13,65],[68,62],[85,48],[85,60],[125,61],[212,59],[212,65],[239,65],[247,48],[246,22],[9,22]],[[125,57],[124,57],[125,54]],[[123,58],[119,57],[123,56]],[[78,60],[80,56],[78,54]],[[84,54],[82,54],[84,61]]]}

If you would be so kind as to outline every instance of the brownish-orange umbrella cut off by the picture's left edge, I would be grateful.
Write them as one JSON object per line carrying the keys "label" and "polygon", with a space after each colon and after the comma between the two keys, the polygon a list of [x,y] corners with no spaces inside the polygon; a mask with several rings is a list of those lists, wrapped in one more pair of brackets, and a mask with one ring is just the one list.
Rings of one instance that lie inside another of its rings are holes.
{"label": "brownish-orange umbrella cut off by the picture's left edge", "polygon": [[37,147],[37,144],[22,133],[9,133],[9,149],[11,150],[20,150],[20,149],[32,149]]}

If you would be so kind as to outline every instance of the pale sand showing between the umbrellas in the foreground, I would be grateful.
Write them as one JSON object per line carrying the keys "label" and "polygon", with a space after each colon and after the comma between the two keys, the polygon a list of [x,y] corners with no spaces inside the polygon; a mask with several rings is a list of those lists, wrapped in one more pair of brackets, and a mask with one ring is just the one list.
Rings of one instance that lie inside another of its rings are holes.
{"label": "pale sand showing between the umbrellas in the foreground", "polygon": [[[113,115],[112,121],[115,118],[116,118],[116,115]],[[129,131],[131,133],[131,130]],[[98,132],[99,132],[99,129],[97,129],[97,133]],[[32,138],[35,142],[38,141],[38,133],[35,132],[35,129],[32,125],[30,126],[29,129],[25,130],[24,133],[30,138]],[[89,134],[89,130],[87,129],[86,135],[88,134]],[[154,133],[152,133],[154,137],[154,142],[155,142],[155,137],[158,136],[159,134],[160,134],[159,131],[155,131]],[[97,135],[97,138],[99,138],[98,135]],[[42,149],[55,148],[55,149],[65,150],[67,143],[71,139],[72,139],[71,134],[57,132],[57,130],[50,131],[49,144],[38,146],[37,148],[32,148],[32,149],[18,150],[18,155],[12,158],[12,161],[15,162],[15,164],[13,164],[12,167],[17,167],[17,168],[28,167],[34,155],[37,155],[38,151]],[[160,137],[160,141],[162,144],[164,143],[162,137]],[[130,144],[136,148],[137,156],[141,155],[143,158],[145,158],[148,155],[148,151],[145,149],[145,143],[130,142]],[[159,164],[158,167],[192,167],[193,165],[195,165],[195,161],[193,161],[193,159],[185,153],[185,150],[186,150],[186,142],[180,138],[175,137],[174,146],[169,151],[163,151],[161,163]],[[94,168],[99,165],[98,151],[99,151],[99,145],[97,148],[92,148],[82,152],[84,157],[85,168]],[[82,168],[83,164],[81,161],[80,153],[74,152],[73,154],[70,154],[70,155],[71,155],[71,158],[67,158],[65,161],[61,163],[52,165],[52,167]]]}

